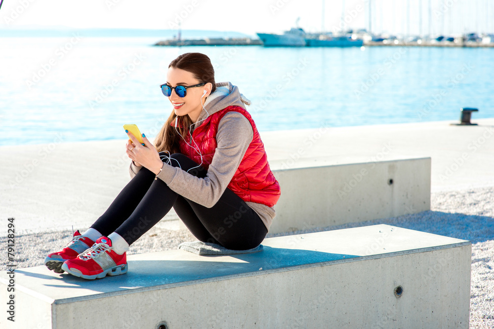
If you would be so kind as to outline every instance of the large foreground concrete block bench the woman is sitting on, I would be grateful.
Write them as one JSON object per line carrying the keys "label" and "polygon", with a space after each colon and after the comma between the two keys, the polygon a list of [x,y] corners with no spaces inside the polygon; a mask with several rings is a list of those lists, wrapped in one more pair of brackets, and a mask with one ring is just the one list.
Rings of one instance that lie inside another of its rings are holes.
{"label": "large foreground concrete block bench the woman is sitting on", "polygon": [[15,269],[15,322],[3,312],[0,327],[468,328],[469,241],[381,224],[263,246],[131,255],[127,274],[94,281]]}

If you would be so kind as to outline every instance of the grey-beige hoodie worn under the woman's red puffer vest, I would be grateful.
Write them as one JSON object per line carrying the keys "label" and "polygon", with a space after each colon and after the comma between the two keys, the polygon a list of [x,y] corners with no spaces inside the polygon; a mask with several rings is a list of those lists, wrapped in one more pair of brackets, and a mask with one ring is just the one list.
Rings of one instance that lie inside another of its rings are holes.
{"label": "grey-beige hoodie worn under the woman's red puffer vest", "polygon": [[[204,122],[201,120],[207,115],[228,106],[240,106],[246,109],[245,104],[250,105],[250,101],[239,92],[237,86],[230,82],[216,83],[216,90],[207,97],[204,104],[206,110],[201,111],[191,131],[200,126]],[[205,178],[192,176],[166,163],[157,178],[183,197],[210,208],[216,204],[232,180],[253,136],[252,126],[243,114],[228,112],[219,121],[216,133],[217,147]],[[131,161],[130,178],[133,178],[141,168],[142,166],[137,167]],[[259,215],[269,230],[276,215],[274,208],[255,202],[246,203]]]}

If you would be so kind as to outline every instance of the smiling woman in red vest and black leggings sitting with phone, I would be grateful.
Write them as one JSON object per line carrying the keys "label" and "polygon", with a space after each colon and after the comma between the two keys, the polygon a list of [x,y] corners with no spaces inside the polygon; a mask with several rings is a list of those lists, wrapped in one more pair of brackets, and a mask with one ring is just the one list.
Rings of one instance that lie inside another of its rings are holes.
{"label": "smiling woman in red vest and black leggings sitting with phone", "polygon": [[250,102],[229,82],[215,83],[209,58],[178,56],[161,85],[173,111],[153,146],[127,132],[131,180],[84,233],[49,254],[46,266],[85,279],[127,272],[129,246],[171,207],[203,242],[257,247],[280,197]]}

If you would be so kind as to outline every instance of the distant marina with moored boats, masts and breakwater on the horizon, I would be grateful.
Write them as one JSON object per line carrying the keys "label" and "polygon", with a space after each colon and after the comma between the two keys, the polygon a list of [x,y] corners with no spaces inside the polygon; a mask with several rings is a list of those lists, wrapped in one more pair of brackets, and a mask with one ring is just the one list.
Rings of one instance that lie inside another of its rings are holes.
{"label": "distant marina with moored boats, masts and breakwater on the horizon", "polygon": [[[374,4],[374,5],[373,5]],[[240,37],[240,38],[204,38],[204,39],[182,39],[181,28],[178,25],[178,35],[173,39],[167,39],[155,43],[156,46],[264,46],[264,47],[362,47],[362,46],[424,46],[424,47],[494,47],[494,33],[489,32],[488,25],[484,32],[463,32],[455,35],[444,33],[445,13],[449,7],[438,9],[432,7],[431,1],[428,6],[422,6],[422,0],[419,0],[419,30],[413,35],[410,30],[410,1],[407,3],[407,15],[404,17],[407,30],[400,35],[393,35],[387,32],[375,32],[375,24],[378,23],[378,17],[382,18],[382,13],[376,13],[375,1],[369,0],[366,6],[357,5],[354,12],[367,11],[367,24],[365,29],[351,29],[346,24],[348,13],[345,10],[345,1],[342,0],[342,12],[339,28],[332,29],[328,32],[325,29],[325,0],[322,0],[322,18],[321,32],[306,32],[298,26],[300,17],[297,18],[295,27],[283,34],[274,33],[256,33],[258,38]],[[483,8],[489,16],[489,5]],[[477,17],[480,13],[477,10]],[[433,11],[434,17],[441,17],[442,28],[433,32]],[[426,13],[426,15],[424,15]],[[427,32],[423,30],[422,15],[427,17]],[[438,16],[439,15],[439,16]],[[451,13],[450,13],[451,15]],[[451,16],[450,23],[451,23]],[[424,31],[424,32],[423,32]],[[464,31],[468,31],[464,29]]]}

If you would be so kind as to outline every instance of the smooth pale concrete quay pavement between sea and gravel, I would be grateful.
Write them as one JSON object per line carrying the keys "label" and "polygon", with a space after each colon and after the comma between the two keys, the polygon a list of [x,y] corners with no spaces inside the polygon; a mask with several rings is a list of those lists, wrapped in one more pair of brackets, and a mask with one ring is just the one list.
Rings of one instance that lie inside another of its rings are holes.
{"label": "smooth pale concrete quay pavement between sea and gravel", "polygon": [[[494,118],[472,121],[479,125],[437,121],[261,137],[273,169],[431,157],[432,192],[494,186]],[[47,145],[1,146],[0,213],[16,218],[19,233],[90,226],[129,181],[125,141],[63,143],[54,134]]]}

